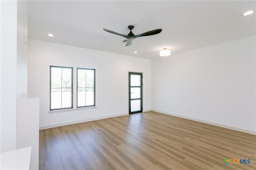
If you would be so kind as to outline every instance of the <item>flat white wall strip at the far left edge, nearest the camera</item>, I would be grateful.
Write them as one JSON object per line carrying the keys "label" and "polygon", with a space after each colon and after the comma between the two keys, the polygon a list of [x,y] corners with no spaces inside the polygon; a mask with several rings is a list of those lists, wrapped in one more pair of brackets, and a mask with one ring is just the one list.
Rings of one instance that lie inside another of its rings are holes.
{"label": "flat white wall strip at the far left edge, nearest the camera", "polygon": [[1,1],[1,151],[16,149],[17,1]]}

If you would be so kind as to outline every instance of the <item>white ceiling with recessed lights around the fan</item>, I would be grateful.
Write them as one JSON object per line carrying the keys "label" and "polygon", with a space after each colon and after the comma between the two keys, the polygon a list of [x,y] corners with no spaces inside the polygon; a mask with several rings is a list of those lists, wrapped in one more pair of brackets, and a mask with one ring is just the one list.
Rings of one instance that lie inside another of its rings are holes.
{"label": "white ceiling with recessed lights around the fan", "polygon": [[[256,1],[29,1],[28,37],[152,59],[163,47],[174,54],[255,36],[255,12],[241,16],[248,10]],[[103,30],[128,34],[129,25],[135,35],[162,32],[126,47],[125,38]]]}

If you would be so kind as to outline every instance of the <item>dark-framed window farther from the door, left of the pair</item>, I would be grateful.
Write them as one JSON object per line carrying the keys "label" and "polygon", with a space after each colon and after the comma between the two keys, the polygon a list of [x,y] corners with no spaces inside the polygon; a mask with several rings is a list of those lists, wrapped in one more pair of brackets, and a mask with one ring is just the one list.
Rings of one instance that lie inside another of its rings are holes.
{"label": "dark-framed window farther from the door, left of the pair", "polygon": [[50,66],[50,110],[73,108],[73,68]]}

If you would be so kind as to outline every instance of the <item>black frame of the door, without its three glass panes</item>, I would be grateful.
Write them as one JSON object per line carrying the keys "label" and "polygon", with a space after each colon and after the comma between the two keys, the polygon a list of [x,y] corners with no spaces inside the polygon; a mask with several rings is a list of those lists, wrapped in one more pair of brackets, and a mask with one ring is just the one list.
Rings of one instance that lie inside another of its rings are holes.
{"label": "black frame of the door, without its three glass panes", "polygon": [[[131,86],[131,75],[140,75],[140,86]],[[130,72],[129,71],[129,114],[133,114],[133,113],[142,113],[143,111],[143,107],[142,107],[142,78],[143,78],[143,74],[142,73],[138,73],[138,72]],[[138,100],[138,99],[131,99],[131,87],[140,87],[140,111],[134,111],[131,112],[131,101],[132,100]]]}

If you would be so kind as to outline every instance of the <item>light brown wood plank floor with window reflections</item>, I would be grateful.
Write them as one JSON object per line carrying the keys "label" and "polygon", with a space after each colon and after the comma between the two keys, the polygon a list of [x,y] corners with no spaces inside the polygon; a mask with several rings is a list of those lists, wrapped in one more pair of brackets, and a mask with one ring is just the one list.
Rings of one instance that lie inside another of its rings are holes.
{"label": "light brown wood plank floor with window reflections", "polygon": [[40,130],[39,147],[40,170],[256,170],[256,135],[151,111]]}

